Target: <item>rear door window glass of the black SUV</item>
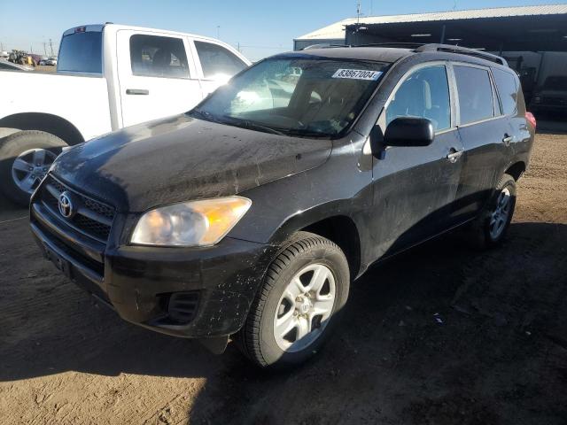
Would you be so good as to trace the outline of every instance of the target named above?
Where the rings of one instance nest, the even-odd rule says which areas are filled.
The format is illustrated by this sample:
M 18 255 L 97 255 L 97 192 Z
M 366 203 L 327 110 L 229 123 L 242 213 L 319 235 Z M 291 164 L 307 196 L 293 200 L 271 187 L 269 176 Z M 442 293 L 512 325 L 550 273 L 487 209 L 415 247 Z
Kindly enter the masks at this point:
M 459 92 L 461 124 L 494 116 L 493 89 L 488 71 L 470 66 L 454 66 Z

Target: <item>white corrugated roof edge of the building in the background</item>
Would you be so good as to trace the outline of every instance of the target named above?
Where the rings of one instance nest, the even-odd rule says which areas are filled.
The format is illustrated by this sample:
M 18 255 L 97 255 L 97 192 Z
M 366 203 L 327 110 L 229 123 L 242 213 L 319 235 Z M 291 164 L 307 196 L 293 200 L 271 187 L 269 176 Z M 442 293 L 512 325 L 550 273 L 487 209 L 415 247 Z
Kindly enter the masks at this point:
M 469 11 L 410 13 L 408 15 L 387 15 L 361 17 L 361 24 L 395 24 L 402 22 L 427 22 L 454 19 L 504 18 L 510 16 L 537 16 L 567 14 L 567 4 L 543 4 L 539 6 L 495 7 L 491 9 L 472 9 Z M 322 27 L 296 40 L 344 39 L 345 26 L 356 23 L 356 18 L 339 20 Z

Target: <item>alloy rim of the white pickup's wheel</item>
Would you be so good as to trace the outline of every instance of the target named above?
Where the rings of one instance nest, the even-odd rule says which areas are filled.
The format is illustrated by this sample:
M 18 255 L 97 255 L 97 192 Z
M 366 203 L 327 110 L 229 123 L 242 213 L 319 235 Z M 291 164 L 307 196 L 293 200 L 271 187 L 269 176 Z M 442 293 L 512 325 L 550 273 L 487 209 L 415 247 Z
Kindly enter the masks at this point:
M 21 152 L 12 164 L 12 180 L 20 190 L 32 194 L 57 155 L 46 149 L 29 149 Z

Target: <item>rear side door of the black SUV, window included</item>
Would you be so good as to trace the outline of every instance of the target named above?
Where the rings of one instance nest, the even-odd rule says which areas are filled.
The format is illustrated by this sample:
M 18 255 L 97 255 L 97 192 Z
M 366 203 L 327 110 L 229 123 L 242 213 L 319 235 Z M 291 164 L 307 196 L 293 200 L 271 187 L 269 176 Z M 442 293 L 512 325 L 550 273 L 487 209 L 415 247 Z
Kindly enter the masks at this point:
M 453 218 L 464 221 L 476 216 L 492 195 L 514 135 L 508 118 L 501 113 L 490 69 L 454 63 L 453 71 L 464 147 Z

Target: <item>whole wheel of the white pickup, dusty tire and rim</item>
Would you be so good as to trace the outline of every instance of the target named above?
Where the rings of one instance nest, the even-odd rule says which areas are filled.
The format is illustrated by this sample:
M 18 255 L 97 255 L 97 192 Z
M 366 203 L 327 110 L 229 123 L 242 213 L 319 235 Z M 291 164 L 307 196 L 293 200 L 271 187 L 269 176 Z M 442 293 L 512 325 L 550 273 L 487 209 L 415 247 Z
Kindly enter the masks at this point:
M 43 131 L 19 131 L 4 137 L 0 140 L 0 190 L 16 204 L 27 206 L 51 162 L 66 145 Z

